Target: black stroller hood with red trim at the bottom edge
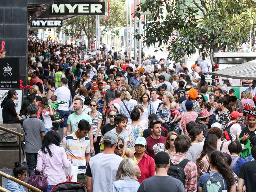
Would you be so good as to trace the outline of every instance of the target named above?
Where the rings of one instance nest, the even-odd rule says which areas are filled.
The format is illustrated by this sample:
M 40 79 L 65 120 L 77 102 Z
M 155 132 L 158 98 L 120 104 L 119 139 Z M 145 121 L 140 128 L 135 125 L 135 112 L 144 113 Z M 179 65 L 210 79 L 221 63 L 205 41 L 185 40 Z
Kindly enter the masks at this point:
M 86 185 L 77 182 L 63 182 L 55 185 L 51 192 L 87 192 Z

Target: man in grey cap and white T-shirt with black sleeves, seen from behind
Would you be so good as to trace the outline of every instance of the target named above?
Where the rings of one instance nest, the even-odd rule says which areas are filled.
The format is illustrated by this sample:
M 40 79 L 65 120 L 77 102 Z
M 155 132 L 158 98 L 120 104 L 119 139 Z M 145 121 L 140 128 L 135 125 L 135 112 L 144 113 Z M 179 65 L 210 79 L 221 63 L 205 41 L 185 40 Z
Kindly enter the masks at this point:
M 114 153 L 118 143 L 117 134 L 107 132 L 103 138 L 104 151 L 92 157 L 87 164 L 87 191 L 109 192 L 122 157 Z

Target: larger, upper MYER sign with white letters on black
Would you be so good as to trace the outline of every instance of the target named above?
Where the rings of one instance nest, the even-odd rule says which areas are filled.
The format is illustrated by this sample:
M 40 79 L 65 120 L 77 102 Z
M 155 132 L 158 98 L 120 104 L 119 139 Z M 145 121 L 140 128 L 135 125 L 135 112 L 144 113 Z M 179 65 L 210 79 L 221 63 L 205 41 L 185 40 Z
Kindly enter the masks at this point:
M 104 11 L 104 2 L 67 2 L 50 6 L 50 15 L 104 15 Z

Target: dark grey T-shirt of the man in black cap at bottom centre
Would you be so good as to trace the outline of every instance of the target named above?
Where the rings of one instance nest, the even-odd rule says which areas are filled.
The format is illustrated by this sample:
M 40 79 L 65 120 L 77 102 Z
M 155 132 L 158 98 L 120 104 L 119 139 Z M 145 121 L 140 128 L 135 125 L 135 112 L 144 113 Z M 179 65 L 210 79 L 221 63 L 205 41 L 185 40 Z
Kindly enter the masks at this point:
M 149 177 L 142 181 L 137 192 L 185 192 L 183 183 L 170 176 Z

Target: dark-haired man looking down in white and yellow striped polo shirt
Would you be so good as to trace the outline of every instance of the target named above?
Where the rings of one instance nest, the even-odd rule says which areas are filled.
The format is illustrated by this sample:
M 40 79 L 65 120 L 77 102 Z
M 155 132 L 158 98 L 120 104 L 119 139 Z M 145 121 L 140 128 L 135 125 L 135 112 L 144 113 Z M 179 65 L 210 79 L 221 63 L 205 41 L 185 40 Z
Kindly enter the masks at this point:
M 72 157 L 72 165 L 78 166 L 77 182 L 86 185 L 86 164 L 90 159 L 90 140 L 87 136 L 91 125 L 86 120 L 80 120 L 78 129 L 63 138 L 62 146 L 67 157 Z

